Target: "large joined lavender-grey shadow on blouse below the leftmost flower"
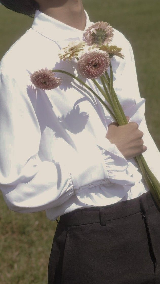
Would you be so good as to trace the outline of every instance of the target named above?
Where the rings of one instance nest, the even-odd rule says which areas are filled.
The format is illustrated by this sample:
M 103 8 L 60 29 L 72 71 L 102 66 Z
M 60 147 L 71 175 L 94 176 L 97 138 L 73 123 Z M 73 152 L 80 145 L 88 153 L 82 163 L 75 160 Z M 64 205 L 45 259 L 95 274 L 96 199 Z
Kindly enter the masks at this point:
M 55 115 L 53 105 L 45 90 L 38 89 L 38 94 L 35 87 L 27 86 L 27 94 L 34 107 L 41 135 L 46 127 L 54 131 L 56 138 L 63 138 L 67 143 L 76 149 L 76 146 L 66 130 L 77 134 L 81 132 L 88 121 L 89 115 L 86 112 L 80 112 L 79 105 L 74 104 L 73 109 L 66 116 L 62 117 Z

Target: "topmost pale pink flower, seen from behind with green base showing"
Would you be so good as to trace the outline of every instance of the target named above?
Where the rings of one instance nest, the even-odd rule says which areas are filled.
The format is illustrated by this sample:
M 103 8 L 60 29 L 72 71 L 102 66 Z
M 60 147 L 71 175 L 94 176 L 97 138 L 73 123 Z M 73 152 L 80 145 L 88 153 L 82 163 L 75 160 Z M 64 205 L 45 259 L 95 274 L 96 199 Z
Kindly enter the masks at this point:
M 88 45 L 103 45 L 112 41 L 113 32 L 113 28 L 107 22 L 97 22 L 86 30 L 83 40 Z

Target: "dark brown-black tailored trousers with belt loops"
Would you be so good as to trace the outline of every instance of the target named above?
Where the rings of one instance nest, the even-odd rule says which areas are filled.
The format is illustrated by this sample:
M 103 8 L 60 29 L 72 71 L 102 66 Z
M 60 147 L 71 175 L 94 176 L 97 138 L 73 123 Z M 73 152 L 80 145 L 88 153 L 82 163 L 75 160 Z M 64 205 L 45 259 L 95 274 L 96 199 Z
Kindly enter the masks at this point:
M 160 210 L 148 191 L 60 216 L 48 284 L 160 284 Z

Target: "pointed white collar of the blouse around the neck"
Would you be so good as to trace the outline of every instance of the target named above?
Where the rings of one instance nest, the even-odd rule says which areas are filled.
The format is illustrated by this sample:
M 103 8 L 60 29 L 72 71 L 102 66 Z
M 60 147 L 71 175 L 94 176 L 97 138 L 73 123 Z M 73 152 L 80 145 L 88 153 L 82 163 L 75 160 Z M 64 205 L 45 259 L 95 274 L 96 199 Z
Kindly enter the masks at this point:
M 84 31 L 92 24 L 86 11 L 85 14 L 86 27 Z M 39 10 L 35 12 L 34 22 L 31 28 L 55 42 L 63 42 L 70 39 L 82 40 L 84 34 L 84 31 L 68 26 Z

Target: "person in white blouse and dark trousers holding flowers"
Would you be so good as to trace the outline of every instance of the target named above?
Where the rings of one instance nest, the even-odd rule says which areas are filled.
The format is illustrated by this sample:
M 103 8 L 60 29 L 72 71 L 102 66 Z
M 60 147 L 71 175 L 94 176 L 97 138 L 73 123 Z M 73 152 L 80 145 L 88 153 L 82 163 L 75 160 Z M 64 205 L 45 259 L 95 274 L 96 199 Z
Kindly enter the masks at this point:
M 34 14 L 34 22 L 0 63 L 0 188 L 10 210 L 60 216 L 48 284 L 159 283 L 160 211 L 134 157 L 143 153 L 159 179 L 160 153 L 146 126 L 129 41 L 114 29 L 111 44 L 125 56 L 111 59 L 114 87 L 129 121 L 118 126 L 67 75 L 48 91 L 30 81 L 45 67 L 76 74 L 74 62 L 58 53 L 94 24 L 82 1 L 1 3 Z

